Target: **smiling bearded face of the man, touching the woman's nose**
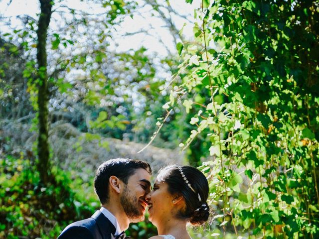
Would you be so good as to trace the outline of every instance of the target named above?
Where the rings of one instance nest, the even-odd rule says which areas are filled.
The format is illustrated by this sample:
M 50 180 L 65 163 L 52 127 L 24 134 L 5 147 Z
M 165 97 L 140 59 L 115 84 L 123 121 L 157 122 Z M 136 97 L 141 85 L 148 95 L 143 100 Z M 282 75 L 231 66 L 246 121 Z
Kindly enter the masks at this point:
M 145 197 L 151 190 L 150 180 L 151 175 L 145 169 L 137 169 L 122 191 L 121 204 L 132 223 L 144 220 L 148 206 Z

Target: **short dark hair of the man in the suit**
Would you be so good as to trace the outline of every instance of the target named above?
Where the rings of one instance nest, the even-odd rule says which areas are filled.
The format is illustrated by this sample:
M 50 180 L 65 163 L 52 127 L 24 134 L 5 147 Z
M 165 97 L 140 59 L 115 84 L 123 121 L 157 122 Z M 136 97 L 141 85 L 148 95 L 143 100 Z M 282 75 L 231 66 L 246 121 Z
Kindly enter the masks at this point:
M 104 204 L 109 201 L 109 179 L 111 176 L 116 176 L 127 184 L 129 178 L 139 168 L 145 169 L 149 174 L 152 174 L 150 164 L 141 160 L 116 158 L 102 163 L 97 169 L 94 178 L 94 190 L 100 202 Z

